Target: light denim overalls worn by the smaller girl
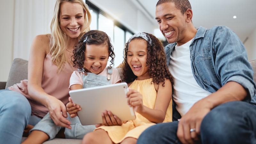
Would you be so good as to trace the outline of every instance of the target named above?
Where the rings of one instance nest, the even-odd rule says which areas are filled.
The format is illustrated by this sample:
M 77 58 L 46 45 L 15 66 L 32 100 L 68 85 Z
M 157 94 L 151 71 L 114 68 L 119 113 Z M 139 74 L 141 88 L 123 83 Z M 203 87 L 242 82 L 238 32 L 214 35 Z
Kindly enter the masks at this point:
M 84 75 L 83 78 L 83 88 L 90 88 L 95 86 L 101 86 L 101 85 L 107 85 L 111 84 L 111 76 L 113 73 L 113 68 L 108 67 L 107 76 L 100 76 L 93 73 L 86 73 L 84 69 L 82 69 L 80 72 L 82 72 Z M 95 125 L 82 125 L 78 116 L 71 118 L 68 114 L 67 118 L 71 124 L 71 130 L 68 128 L 65 128 L 65 138 L 66 139 L 83 139 L 84 135 L 88 132 L 92 132 L 95 129 Z M 47 113 L 44 118 L 35 125 L 35 127 L 31 130 L 39 130 L 42 132 L 45 132 L 50 138 L 49 140 L 52 140 L 55 138 L 57 133 L 60 131 L 60 129 L 63 127 L 57 126 L 52 121 L 49 113 Z M 30 132 L 31 132 L 30 131 Z

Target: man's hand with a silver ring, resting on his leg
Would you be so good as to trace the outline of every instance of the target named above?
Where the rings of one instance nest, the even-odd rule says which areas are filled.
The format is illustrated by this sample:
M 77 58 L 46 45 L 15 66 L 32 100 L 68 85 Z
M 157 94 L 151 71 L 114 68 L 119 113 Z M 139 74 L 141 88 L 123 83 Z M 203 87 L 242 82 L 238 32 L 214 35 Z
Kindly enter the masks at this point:
M 210 111 L 209 104 L 199 100 L 181 117 L 177 131 L 177 136 L 181 143 L 194 144 L 198 140 L 201 122 Z

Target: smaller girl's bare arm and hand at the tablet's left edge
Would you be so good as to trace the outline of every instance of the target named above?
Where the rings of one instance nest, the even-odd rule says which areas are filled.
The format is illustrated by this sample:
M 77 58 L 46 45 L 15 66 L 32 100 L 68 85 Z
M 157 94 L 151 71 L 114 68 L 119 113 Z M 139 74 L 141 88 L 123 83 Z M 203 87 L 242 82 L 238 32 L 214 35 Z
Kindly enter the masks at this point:
M 70 86 L 71 90 L 77 90 L 77 89 L 82 89 L 82 85 L 81 84 L 73 84 Z M 71 97 L 68 98 L 69 103 L 66 105 L 67 111 L 70 115 L 70 117 L 76 117 L 77 116 L 77 112 L 80 111 L 82 108 L 77 105 L 76 103 L 73 103 Z

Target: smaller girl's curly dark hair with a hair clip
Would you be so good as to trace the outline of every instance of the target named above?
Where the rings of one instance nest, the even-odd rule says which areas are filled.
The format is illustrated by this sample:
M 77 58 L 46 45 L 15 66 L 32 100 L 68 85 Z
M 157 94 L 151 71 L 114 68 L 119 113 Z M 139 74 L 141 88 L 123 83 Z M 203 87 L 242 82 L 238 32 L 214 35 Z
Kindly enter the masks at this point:
M 87 33 L 85 33 L 84 36 L 82 36 L 81 39 L 78 41 L 76 48 L 73 50 L 74 55 L 73 55 L 72 61 L 74 63 L 73 65 L 74 67 L 77 66 L 77 68 L 80 70 L 84 68 L 84 52 L 86 49 L 86 44 L 87 45 L 107 44 L 109 57 L 111 57 L 110 68 L 112 68 L 112 65 L 114 65 L 114 58 L 115 58 L 114 48 L 113 48 L 113 45 L 111 44 L 110 37 L 105 32 L 100 30 L 90 30 Z

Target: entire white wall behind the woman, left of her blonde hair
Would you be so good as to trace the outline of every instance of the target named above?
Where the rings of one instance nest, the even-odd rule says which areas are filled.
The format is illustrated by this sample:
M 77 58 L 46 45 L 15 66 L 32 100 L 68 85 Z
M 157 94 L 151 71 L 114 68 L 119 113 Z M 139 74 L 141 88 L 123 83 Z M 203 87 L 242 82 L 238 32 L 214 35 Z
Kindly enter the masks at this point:
M 54 0 L 1 0 L 0 81 L 7 81 L 14 58 L 28 60 L 30 45 L 50 32 Z

